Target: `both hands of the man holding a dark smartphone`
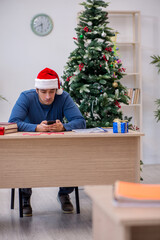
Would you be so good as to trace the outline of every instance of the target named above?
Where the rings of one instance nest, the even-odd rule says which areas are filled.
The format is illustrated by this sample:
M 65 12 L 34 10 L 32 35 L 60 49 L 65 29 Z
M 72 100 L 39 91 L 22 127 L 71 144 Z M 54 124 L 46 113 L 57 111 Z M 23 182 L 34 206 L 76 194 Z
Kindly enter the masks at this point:
M 36 127 L 36 132 L 63 132 L 65 128 L 60 120 L 56 120 L 56 123 L 47 125 L 47 121 L 42 121 Z

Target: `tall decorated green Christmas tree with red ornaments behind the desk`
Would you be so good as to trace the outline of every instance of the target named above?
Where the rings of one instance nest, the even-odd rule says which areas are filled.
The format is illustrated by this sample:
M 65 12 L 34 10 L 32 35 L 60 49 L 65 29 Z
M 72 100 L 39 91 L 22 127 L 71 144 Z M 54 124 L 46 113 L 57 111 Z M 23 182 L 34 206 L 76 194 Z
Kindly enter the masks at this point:
M 70 53 L 63 88 L 69 92 L 86 119 L 87 127 L 109 127 L 122 119 L 120 103 L 128 104 L 127 89 L 120 83 L 125 69 L 117 55 L 108 27 L 108 13 L 103 0 L 86 0 L 79 15 L 76 49 Z

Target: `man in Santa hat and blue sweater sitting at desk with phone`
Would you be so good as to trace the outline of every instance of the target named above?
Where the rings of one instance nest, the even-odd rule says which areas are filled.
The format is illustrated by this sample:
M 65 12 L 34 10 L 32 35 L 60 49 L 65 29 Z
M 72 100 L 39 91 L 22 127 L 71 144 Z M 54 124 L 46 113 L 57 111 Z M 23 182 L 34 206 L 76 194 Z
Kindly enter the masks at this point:
M 16 122 L 19 131 L 61 132 L 85 128 L 86 123 L 70 95 L 60 89 L 58 74 L 52 69 L 43 69 L 35 79 L 35 89 L 21 93 L 13 107 L 9 122 Z M 63 123 L 66 117 L 68 123 Z M 55 123 L 47 124 L 54 120 Z M 73 187 L 60 187 L 58 200 L 65 213 L 73 212 L 69 194 Z M 22 189 L 23 215 L 32 216 L 31 188 Z

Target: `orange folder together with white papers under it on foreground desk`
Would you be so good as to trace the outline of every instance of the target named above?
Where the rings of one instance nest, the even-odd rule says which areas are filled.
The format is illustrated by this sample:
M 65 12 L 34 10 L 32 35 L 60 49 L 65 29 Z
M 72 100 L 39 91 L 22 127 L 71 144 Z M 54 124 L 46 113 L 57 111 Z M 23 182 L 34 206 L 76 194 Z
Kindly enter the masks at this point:
M 117 181 L 113 188 L 113 204 L 122 207 L 160 207 L 160 184 Z

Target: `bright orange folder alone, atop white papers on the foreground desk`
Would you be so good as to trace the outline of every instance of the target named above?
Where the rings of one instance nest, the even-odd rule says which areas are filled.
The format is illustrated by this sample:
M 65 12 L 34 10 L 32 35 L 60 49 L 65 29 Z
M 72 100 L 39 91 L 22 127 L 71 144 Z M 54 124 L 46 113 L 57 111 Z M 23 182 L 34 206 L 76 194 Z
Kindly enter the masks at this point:
M 160 184 L 117 181 L 114 187 L 114 198 L 120 202 L 160 202 Z

